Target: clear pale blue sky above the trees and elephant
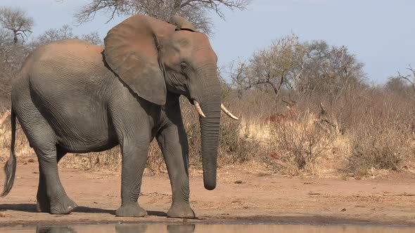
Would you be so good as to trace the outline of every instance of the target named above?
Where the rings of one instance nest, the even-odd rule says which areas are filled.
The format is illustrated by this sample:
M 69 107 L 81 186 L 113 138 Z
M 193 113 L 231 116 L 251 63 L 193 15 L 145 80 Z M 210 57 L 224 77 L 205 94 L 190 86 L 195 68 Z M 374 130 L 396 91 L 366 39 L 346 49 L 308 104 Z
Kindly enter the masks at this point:
M 0 6 L 18 6 L 34 18 L 32 36 L 69 24 L 76 34 L 108 29 L 104 15 L 76 27 L 73 13 L 89 0 L 1 0 Z M 369 79 L 382 84 L 388 76 L 415 66 L 415 1 L 412 0 L 253 0 L 248 11 L 224 10 L 226 21 L 213 15 L 215 36 L 211 43 L 219 65 L 249 58 L 274 39 L 295 33 L 300 40 L 324 39 L 347 46 Z

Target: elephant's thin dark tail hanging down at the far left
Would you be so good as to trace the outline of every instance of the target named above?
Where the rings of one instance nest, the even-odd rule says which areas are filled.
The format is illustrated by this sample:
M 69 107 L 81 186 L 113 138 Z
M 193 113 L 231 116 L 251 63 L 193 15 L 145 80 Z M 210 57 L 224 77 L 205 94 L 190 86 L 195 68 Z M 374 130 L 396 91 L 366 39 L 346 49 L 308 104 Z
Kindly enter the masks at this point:
M 8 161 L 4 165 L 4 172 L 6 173 L 6 180 L 4 181 L 4 189 L 1 193 L 1 197 L 6 197 L 7 194 L 10 192 L 11 187 L 13 187 L 13 182 L 16 173 L 16 155 L 15 155 L 15 139 L 16 139 L 16 114 L 13 111 L 13 107 L 11 110 L 11 145 L 10 145 L 10 157 L 8 157 Z

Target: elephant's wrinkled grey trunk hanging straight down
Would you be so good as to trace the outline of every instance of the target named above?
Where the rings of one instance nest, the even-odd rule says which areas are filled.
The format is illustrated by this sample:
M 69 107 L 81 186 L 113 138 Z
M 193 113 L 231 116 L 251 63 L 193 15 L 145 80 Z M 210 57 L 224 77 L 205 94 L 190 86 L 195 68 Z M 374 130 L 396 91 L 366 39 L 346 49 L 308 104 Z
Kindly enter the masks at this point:
M 210 72 L 211 73 L 211 72 Z M 219 143 L 219 126 L 221 111 L 221 89 L 215 68 L 214 75 L 204 76 L 198 91 L 200 108 L 200 135 L 202 140 L 203 183 L 205 189 L 216 187 L 217 149 Z M 196 104 L 197 105 L 197 104 Z

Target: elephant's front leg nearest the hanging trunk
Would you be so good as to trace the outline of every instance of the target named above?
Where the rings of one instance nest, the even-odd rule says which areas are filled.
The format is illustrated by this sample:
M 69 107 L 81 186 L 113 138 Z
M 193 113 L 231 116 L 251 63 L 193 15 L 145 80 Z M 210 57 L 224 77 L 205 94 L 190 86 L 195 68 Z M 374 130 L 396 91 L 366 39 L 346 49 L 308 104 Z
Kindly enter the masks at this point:
M 189 145 L 181 123 L 163 128 L 157 135 L 172 185 L 172 206 L 167 211 L 170 218 L 195 218 L 189 204 Z

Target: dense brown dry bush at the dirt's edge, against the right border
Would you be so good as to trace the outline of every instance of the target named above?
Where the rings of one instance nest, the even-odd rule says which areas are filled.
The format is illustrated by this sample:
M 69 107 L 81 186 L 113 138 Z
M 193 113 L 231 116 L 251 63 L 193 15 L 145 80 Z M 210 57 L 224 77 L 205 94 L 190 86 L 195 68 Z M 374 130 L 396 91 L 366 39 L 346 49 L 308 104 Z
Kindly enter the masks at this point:
M 370 101 L 369 101 L 370 100 Z M 400 171 L 414 160 L 414 103 L 397 95 L 371 93 L 364 114 L 352 125 L 348 168 L 357 177 L 373 169 Z

